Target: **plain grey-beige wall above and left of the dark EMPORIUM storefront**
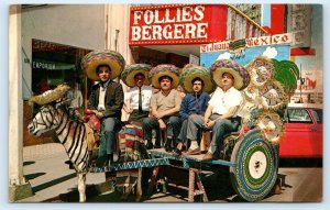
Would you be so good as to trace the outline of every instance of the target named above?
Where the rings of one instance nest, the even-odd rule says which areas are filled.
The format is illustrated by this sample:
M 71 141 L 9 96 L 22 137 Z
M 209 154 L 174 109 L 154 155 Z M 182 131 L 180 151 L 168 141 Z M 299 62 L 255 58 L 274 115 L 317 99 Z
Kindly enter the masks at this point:
M 105 48 L 103 4 L 45 5 L 22 10 L 21 16 L 23 99 L 31 97 L 32 38 L 80 48 Z

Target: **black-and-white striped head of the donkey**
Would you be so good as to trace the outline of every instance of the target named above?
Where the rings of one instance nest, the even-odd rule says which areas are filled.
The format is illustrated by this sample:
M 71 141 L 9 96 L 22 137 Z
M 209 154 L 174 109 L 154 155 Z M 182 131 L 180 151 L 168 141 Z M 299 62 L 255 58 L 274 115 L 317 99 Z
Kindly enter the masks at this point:
M 61 123 L 59 111 L 51 104 L 43 106 L 29 123 L 28 130 L 31 134 L 41 134 L 55 129 Z

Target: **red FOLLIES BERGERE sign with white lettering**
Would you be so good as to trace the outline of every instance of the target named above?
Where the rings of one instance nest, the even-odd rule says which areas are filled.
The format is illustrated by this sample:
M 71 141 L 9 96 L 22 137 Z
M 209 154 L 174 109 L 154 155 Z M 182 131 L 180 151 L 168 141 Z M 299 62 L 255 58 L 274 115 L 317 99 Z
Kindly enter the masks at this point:
M 213 15 L 217 15 L 215 21 Z M 131 8 L 130 45 L 199 44 L 226 38 L 227 7 L 161 4 Z M 211 22 L 212 19 L 212 22 Z

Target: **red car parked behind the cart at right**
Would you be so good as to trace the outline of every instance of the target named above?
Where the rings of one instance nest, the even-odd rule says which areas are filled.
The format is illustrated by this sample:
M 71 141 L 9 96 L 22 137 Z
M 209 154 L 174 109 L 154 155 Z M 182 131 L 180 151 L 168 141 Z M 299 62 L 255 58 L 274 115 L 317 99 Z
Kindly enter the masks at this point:
M 322 158 L 323 110 L 317 104 L 289 103 L 284 115 L 280 158 Z

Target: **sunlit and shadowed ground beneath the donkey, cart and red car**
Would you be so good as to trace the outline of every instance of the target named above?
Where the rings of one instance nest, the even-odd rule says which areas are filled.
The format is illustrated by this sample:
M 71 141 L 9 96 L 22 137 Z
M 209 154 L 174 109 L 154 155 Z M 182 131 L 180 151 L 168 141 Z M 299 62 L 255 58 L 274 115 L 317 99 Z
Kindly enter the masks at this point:
M 34 196 L 16 202 L 77 202 L 77 178 L 65 164 L 68 157 L 59 143 L 48 143 L 23 148 L 23 173 Z M 231 187 L 227 170 L 209 173 L 204 185 L 210 202 L 244 202 Z M 322 201 L 322 167 L 312 165 L 282 166 L 279 195 L 270 195 L 262 202 L 320 202 Z M 135 202 L 134 196 L 123 198 L 107 183 L 105 174 L 87 174 L 87 202 Z M 199 198 L 196 198 L 196 201 Z M 187 202 L 188 194 L 168 187 L 161 189 L 142 202 Z

